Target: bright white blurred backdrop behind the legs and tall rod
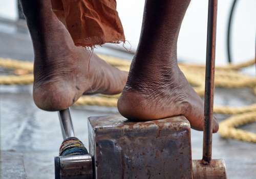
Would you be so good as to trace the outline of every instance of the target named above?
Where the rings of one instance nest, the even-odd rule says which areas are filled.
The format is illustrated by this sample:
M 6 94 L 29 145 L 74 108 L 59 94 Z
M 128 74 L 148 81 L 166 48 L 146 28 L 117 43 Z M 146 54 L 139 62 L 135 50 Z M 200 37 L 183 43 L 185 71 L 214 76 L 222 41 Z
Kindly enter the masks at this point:
M 217 64 L 225 64 L 227 61 L 226 31 L 232 2 L 233 0 L 218 2 Z M 255 7 L 256 1 L 254 0 L 243 0 L 237 3 L 231 34 L 231 49 L 234 62 L 252 59 L 255 56 Z M 131 43 L 134 52 L 139 42 L 143 8 L 144 1 L 142 0 L 117 0 L 117 10 L 123 24 L 125 37 Z M 17 20 L 16 0 L 0 1 L 0 18 Z M 206 27 L 207 1 L 192 0 L 180 31 L 178 42 L 178 57 L 180 59 L 191 60 L 195 63 L 205 62 Z M 0 30 L 4 33 L 15 33 L 15 29 L 10 29 L 3 25 L 1 25 Z M 125 47 L 130 48 L 129 43 Z

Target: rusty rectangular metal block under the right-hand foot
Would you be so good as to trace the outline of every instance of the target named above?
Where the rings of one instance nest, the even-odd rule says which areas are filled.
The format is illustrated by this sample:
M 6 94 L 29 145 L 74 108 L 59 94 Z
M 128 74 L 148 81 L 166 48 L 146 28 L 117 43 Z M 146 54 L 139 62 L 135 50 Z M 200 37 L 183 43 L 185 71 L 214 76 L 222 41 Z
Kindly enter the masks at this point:
M 135 122 L 89 118 L 96 179 L 192 178 L 190 125 L 184 116 Z

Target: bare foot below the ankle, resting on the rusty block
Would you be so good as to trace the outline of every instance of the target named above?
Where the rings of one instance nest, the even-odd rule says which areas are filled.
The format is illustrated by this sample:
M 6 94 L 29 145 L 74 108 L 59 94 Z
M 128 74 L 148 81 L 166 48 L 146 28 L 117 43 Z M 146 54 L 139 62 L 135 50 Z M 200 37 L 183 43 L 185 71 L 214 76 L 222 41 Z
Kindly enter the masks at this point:
M 193 129 L 202 131 L 204 126 L 204 103 L 179 68 L 166 80 L 155 79 L 135 88 L 127 82 L 118 100 L 118 110 L 124 117 L 134 120 L 184 115 Z M 214 119 L 213 132 L 218 129 Z

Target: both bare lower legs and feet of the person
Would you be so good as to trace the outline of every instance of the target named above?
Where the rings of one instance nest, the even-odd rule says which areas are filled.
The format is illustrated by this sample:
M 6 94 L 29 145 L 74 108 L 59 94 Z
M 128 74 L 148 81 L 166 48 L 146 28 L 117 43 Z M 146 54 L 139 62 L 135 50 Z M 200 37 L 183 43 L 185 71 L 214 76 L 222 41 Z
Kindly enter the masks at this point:
M 74 45 L 50 0 L 20 2 L 34 46 L 33 97 L 39 108 L 58 111 L 72 106 L 83 93 L 116 94 L 123 89 L 118 110 L 124 117 L 184 115 L 191 127 L 203 130 L 203 101 L 177 64 L 179 30 L 190 0 L 146 0 L 140 43 L 126 85 L 127 73 L 97 56 L 92 55 L 89 65 L 90 52 Z M 214 119 L 213 132 L 218 128 Z

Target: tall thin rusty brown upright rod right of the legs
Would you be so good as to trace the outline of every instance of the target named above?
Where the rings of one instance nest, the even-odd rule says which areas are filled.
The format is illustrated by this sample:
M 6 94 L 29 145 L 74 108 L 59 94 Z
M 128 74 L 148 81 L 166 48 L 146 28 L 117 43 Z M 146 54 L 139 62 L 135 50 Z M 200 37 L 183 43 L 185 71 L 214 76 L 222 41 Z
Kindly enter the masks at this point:
M 203 163 L 205 164 L 210 163 L 211 160 L 217 7 L 218 0 L 209 0 L 204 95 Z

